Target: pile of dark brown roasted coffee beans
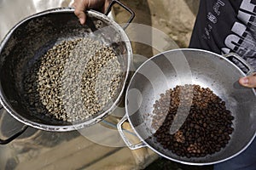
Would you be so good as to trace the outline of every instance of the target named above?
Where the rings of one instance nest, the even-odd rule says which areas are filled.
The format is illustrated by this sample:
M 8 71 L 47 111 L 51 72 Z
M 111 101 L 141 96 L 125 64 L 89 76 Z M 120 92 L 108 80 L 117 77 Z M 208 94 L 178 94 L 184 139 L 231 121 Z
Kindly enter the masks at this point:
M 184 108 L 189 108 L 189 113 L 183 113 Z M 181 109 L 179 116 L 187 117 L 177 132 L 171 134 L 170 128 L 178 109 Z M 199 85 L 167 90 L 155 102 L 153 113 L 154 139 L 177 156 L 212 155 L 229 143 L 234 131 L 234 116 L 226 109 L 225 102 L 209 88 Z

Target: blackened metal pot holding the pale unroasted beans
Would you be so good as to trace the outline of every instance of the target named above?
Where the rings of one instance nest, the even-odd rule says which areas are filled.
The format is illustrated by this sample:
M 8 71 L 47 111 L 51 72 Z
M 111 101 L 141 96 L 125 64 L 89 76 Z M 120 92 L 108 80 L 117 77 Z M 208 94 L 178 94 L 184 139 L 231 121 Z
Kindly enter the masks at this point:
M 59 121 L 27 109 L 22 81 L 33 61 L 57 42 L 91 36 L 113 48 L 123 69 L 120 88 L 108 108 L 80 122 Z M 87 127 L 100 122 L 119 104 L 131 62 L 131 43 L 124 29 L 105 14 L 88 11 L 84 26 L 80 25 L 73 8 L 33 14 L 12 28 L 0 45 L 0 101 L 9 114 L 31 127 L 59 132 Z

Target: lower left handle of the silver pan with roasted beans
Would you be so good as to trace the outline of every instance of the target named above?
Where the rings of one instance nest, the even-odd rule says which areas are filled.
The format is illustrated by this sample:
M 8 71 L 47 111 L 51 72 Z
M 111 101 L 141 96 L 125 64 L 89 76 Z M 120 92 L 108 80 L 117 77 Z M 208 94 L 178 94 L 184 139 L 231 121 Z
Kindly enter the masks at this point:
M 130 148 L 130 150 L 137 150 L 139 148 L 143 148 L 146 147 L 147 144 L 144 144 L 143 142 L 140 142 L 138 144 L 131 144 L 131 142 L 129 141 L 129 139 L 125 136 L 125 133 L 123 131 L 122 125 L 123 123 L 127 120 L 127 116 L 124 116 L 120 122 L 117 124 L 117 128 L 119 130 L 119 134 L 122 137 L 122 139 L 124 140 L 125 144 Z

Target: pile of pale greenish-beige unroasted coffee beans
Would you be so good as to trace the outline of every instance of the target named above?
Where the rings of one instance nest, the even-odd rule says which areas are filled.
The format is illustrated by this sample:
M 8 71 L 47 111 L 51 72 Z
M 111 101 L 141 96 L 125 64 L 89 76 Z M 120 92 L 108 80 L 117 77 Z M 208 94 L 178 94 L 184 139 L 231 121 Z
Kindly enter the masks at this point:
M 104 111 L 120 88 L 122 71 L 113 48 L 91 38 L 49 48 L 24 79 L 29 110 L 65 122 Z

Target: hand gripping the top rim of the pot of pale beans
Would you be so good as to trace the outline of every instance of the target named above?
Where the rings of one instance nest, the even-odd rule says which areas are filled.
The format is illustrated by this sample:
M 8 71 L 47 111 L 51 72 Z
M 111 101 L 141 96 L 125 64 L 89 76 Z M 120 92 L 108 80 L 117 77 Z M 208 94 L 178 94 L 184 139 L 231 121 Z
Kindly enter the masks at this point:
M 74 14 L 79 17 L 80 23 L 84 25 L 86 20 L 84 11 L 93 8 L 104 13 L 109 3 L 110 0 L 75 0 L 73 3 L 75 8 Z

